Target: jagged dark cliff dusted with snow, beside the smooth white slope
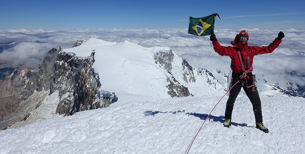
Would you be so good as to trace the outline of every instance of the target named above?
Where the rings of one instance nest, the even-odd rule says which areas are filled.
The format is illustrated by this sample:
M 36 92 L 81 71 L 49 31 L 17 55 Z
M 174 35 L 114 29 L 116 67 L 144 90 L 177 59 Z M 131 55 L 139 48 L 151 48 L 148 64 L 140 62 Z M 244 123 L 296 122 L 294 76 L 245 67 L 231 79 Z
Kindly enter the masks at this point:
M 99 82 L 91 68 L 95 51 L 88 57 L 78 57 L 74 53 L 59 52 L 54 65 L 54 82 L 50 94 L 59 91 L 60 102 L 56 113 L 73 115 L 76 112 L 109 106 L 117 100 L 99 91 Z M 98 77 L 97 77 L 98 78 Z M 104 91 L 104 93 L 107 93 Z M 108 92 L 108 94 L 112 94 Z

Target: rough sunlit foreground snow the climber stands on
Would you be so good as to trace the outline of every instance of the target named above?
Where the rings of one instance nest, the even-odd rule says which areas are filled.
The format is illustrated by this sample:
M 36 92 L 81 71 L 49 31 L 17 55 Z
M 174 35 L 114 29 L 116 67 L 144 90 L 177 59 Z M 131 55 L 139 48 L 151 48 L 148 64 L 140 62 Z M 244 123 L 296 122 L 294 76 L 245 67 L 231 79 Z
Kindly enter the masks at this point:
M 0 153 L 185 153 L 219 99 L 128 102 L 46 119 L 0 131 Z M 213 110 L 189 153 L 304 153 L 304 98 L 261 96 L 270 130 L 266 134 L 255 128 L 252 105 L 244 95 L 235 102 L 232 126 L 223 127 L 226 99 Z

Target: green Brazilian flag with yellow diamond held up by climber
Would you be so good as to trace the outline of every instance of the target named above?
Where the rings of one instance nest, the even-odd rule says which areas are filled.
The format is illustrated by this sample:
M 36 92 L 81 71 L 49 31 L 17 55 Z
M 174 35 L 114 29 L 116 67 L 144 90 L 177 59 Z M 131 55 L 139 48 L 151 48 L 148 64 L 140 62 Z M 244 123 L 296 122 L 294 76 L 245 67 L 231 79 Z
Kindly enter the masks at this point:
M 188 34 L 193 34 L 197 36 L 206 36 L 214 34 L 215 17 L 214 14 L 202 18 L 193 18 L 190 16 Z

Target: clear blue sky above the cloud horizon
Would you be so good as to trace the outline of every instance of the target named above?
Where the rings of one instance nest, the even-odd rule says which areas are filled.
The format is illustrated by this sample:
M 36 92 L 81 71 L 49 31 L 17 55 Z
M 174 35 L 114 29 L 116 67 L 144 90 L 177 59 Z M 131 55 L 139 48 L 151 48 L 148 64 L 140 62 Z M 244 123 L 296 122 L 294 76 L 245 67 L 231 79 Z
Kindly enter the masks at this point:
M 188 28 L 189 16 L 218 13 L 215 29 L 304 29 L 305 6 L 291 1 L 2 1 L 0 30 Z

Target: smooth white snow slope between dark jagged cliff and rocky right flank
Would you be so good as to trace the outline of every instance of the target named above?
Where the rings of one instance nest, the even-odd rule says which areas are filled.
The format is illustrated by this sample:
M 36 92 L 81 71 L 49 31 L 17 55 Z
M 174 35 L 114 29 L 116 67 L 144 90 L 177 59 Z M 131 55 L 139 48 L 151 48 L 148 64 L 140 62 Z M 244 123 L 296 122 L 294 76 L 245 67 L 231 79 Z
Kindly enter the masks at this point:
M 153 59 L 155 52 L 169 51 L 169 48 L 145 48 L 128 41 L 116 43 L 91 38 L 78 47 L 63 49 L 64 52 L 73 52 L 81 57 L 89 56 L 92 50 L 95 50 L 92 68 L 99 73 L 102 84 L 99 89 L 119 94 L 118 103 L 135 100 L 121 95 L 124 93 L 155 99 L 170 97 L 165 88 L 166 71 Z

